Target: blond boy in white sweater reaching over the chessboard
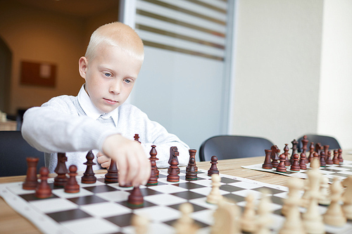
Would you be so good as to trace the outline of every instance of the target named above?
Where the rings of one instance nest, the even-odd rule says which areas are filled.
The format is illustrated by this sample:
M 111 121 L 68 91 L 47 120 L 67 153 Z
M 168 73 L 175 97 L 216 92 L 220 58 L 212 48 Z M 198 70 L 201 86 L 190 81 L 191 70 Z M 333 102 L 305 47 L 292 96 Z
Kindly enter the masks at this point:
M 113 22 L 99 27 L 79 60 L 85 84 L 75 96 L 51 98 L 41 107 L 25 112 L 23 138 L 45 153 L 45 164 L 52 173 L 56 152 L 66 152 L 68 165 L 84 171 L 85 155 L 96 149 L 102 167 L 115 160 L 119 182 L 145 184 L 150 176 L 148 160 L 151 145 L 157 145 L 158 167 L 168 167 L 170 147 L 177 146 L 180 164 L 187 164 L 188 146 L 146 114 L 125 103 L 144 60 L 142 40 L 127 25 Z M 139 134 L 139 144 L 133 141 Z M 97 164 L 94 169 L 100 169 Z

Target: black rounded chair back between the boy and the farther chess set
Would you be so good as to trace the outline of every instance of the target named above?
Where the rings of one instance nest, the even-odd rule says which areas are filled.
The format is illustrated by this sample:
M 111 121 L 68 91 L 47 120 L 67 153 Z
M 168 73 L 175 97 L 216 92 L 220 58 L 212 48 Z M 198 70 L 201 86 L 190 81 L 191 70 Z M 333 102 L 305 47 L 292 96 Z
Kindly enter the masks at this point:
M 229 160 L 240 157 L 264 156 L 265 150 L 272 147 L 272 143 L 260 137 L 253 136 L 213 136 L 201 144 L 199 158 L 210 161 L 215 155 L 218 160 Z

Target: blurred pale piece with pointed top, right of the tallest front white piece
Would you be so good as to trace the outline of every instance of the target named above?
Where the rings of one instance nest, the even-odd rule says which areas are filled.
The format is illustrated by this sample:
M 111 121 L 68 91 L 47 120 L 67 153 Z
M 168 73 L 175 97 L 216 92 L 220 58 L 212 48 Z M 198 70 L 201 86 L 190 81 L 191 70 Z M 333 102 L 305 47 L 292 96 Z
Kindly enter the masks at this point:
M 347 222 L 346 216 L 342 210 L 341 200 L 342 186 L 337 177 L 331 186 L 331 203 L 324 214 L 324 222 L 331 226 L 344 226 Z

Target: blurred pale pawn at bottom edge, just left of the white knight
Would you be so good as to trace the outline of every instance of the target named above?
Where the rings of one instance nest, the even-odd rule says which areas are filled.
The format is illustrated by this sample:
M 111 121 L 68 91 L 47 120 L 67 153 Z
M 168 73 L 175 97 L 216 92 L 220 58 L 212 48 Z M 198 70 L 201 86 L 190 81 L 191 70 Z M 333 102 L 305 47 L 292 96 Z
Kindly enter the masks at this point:
M 191 218 L 191 213 L 194 211 L 191 203 L 182 203 L 180 204 L 180 219 L 174 224 L 176 234 L 196 234 L 199 226 L 194 223 L 194 220 Z

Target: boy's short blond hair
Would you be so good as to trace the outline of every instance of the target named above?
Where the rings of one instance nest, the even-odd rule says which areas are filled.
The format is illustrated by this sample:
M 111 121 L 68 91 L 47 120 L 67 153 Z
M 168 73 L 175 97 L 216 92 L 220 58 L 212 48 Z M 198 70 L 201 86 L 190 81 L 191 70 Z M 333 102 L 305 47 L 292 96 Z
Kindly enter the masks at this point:
M 99 46 L 118 46 L 130 56 L 143 61 L 143 41 L 130 26 L 122 22 L 111 22 L 98 27 L 90 37 L 84 57 L 93 60 Z

